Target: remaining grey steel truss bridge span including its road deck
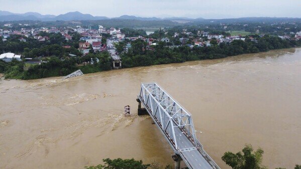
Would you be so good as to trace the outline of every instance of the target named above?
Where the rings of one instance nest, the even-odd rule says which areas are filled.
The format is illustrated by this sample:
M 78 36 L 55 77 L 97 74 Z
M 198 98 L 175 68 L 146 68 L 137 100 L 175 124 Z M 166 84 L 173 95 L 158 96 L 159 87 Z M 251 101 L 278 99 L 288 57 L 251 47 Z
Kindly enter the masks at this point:
M 188 168 L 220 169 L 197 140 L 191 114 L 162 87 L 155 82 L 142 83 L 138 99 Z

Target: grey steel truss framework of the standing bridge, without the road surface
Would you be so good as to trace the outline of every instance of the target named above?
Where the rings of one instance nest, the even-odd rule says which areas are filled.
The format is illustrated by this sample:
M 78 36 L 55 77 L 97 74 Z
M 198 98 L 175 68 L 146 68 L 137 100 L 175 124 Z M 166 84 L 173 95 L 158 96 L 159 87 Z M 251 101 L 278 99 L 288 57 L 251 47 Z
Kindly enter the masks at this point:
M 142 83 L 138 99 L 143 103 L 174 152 L 181 155 L 184 161 L 185 157 L 182 152 L 197 149 L 213 168 L 220 169 L 197 140 L 191 114 L 157 83 Z M 179 148 L 178 134 L 175 133 L 176 127 L 189 139 L 193 147 Z M 185 162 L 187 164 L 187 161 Z

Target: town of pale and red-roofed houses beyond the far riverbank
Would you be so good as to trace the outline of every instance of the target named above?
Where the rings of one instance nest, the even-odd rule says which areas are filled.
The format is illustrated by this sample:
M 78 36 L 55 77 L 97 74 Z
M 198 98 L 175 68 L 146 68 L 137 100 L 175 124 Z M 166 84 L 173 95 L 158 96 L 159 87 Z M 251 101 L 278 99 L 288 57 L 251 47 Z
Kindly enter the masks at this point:
M 164 35 L 168 34 L 168 29 L 162 29 L 162 37 L 160 38 L 152 38 L 152 36 L 137 36 L 137 37 L 127 37 L 126 33 L 122 32 L 121 29 L 118 28 L 105 28 L 103 26 L 88 26 L 88 28 L 83 28 L 82 26 L 76 27 L 50 27 L 50 28 L 38 28 L 38 29 L 27 29 L 30 27 L 29 24 L 19 24 L 21 30 L 14 30 L 14 24 L 4 24 L 3 29 L 0 29 L 0 37 L 2 38 L 3 43 L 6 43 L 8 38 L 12 35 L 19 36 L 20 42 L 26 42 L 28 39 L 35 39 L 41 43 L 49 41 L 49 37 L 41 36 L 40 32 L 45 33 L 54 33 L 54 34 L 61 34 L 65 40 L 71 41 L 72 35 L 69 35 L 70 32 L 76 32 L 80 35 L 80 39 L 78 42 L 78 51 L 85 56 L 90 52 L 92 49 L 93 52 L 102 52 L 102 51 L 110 51 L 110 54 L 114 60 L 117 60 L 121 63 L 121 58 L 118 56 L 119 54 L 115 51 L 114 44 L 118 42 L 125 42 L 125 50 L 128 51 L 131 48 L 131 42 L 141 39 L 147 43 L 147 50 L 154 50 L 154 46 L 158 44 L 158 42 L 162 41 L 165 42 L 166 46 L 170 48 L 179 47 L 179 46 L 188 46 L 190 49 L 193 47 L 210 47 L 214 44 L 219 45 L 220 43 L 231 43 L 234 40 L 242 40 L 245 41 L 246 37 L 241 35 L 235 36 L 225 36 L 225 35 L 217 35 L 211 34 L 207 31 L 198 30 L 196 34 L 187 31 L 187 29 L 183 29 L 181 32 L 175 32 L 172 38 L 173 41 L 170 40 L 167 36 Z M 224 27 L 225 29 L 227 26 Z M 161 29 L 160 29 L 161 31 Z M 262 37 L 264 34 L 260 34 L 259 30 L 256 33 Z M 102 41 L 103 36 L 106 35 L 107 42 Z M 290 32 L 289 35 L 281 35 L 278 36 L 281 39 L 289 39 L 289 40 L 300 40 L 301 39 L 301 31 L 299 32 Z M 255 37 L 248 36 L 249 40 L 257 42 Z M 174 42 L 177 41 L 179 43 L 175 44 Z M 214 43 L 213 43 L 214 41 Z M 62 46 L 63 48 L 71 48 L 69 45 Z M 17 58 L 21 60 L 22 58 L 28 58 L 27 56 L 22 56 L 20 54 L 6 54 L 5 52 L 10 51 L 3 51 L 4 54 L 1 55 L 0 59 L 3 60 L 12 60 L 12 58 Z M 72 53 L 69 56 L 76 56 Z M 11 59 L 8 59 L 11 57 Z M 121 64 L 120 67 L 121 68 Z

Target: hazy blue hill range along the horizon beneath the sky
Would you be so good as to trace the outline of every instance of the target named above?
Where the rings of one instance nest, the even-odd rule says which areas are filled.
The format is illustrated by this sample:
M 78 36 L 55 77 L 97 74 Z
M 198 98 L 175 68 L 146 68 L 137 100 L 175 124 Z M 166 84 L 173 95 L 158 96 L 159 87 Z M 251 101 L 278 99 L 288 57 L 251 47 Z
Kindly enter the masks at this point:
M 108 17 L 94 17 L 90 14 L 82 14 L 80 12 L 69 12 L 66 14 L 61 14 L 58 16 L 54 15 L 41 15 L 39 13 L 28 12 L 25 14 L 14 14 L 8 11 L 0 11 L 0 21 L 22 21 L 22 20 L 30 20 L 30 21 L 101 21 L 101 20 L 136 20 L 136 21 L 185 21 L 185 22 L 177 22 L 177 23 L 189 23 L 189 24 L 199 24 L 199 23 L 234 23 L 234 22 L 246 22 L 246 23 L 254 23 L 254 22 L 301 22 L 300 18 L 269 18 L 269 17 L 246 17 L 246 18 L 230 18 L 230 19 L 204 19 L 204 18 L 185 18 L 185 17 L 169 17 L 169 18 L 144 18 L 144 17 L 136 17 L 123 15 L 116 18 L 108 18 Z M 187 22 L 188 21 L 188 22 Z

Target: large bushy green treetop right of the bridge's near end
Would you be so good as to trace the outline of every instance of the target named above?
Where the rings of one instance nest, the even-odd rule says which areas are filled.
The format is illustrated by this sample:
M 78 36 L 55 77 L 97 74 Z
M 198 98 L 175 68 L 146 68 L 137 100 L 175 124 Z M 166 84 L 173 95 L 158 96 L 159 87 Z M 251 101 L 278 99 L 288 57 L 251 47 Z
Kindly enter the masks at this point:
M 258 148 L 253 152 L 252 145 L 245 145 L 242 152 L 225 152 L 222 156 L 223 161 L 226 162 L 233 169 L 262 169 L 266 168 L 261 165 L 263 150 Z

